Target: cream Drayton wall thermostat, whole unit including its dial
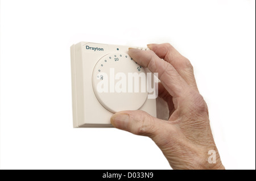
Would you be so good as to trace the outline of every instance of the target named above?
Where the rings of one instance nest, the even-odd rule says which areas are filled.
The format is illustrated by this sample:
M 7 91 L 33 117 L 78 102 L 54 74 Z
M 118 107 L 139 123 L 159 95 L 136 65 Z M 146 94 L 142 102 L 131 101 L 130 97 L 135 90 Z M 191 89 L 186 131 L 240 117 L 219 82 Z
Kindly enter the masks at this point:
M 88 42 L 71 46 L 74 128 L 112 127 L 113 113 L 125 110 L 143 110 L 156 117 L 158 79 L 128 50 Z

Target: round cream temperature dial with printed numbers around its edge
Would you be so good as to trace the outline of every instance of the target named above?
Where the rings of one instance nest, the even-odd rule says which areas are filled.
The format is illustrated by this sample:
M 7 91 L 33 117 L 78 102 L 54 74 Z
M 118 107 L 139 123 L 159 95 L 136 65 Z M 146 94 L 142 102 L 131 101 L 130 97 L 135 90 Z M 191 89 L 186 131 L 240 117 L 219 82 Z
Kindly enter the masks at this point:
M 147 99 L 147 76 L 127 53 L 106 54 L 96 64 L 92 75 L 93 91 L 110 112 L 138 110 Z

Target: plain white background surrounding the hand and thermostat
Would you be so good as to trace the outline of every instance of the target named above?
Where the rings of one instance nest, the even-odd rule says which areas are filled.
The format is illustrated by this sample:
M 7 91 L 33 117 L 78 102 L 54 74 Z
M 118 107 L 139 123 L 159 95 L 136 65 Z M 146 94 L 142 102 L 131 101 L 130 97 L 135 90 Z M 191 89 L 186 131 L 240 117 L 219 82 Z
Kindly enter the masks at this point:
M 226 169 L 255 169 L 255 1 L 1 1 L 1 169 L 170 169 L 150 138 L 73 129 L 69 47 L 171 43 Z M 95 110 L 97 113 L 97 110 Z

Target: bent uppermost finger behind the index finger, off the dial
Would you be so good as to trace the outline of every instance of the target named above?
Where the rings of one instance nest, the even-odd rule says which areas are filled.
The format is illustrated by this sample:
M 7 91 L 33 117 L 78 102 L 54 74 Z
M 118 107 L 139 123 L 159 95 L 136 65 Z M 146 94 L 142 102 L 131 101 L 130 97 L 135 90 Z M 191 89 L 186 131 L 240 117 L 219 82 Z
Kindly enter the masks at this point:
M 172 64 L 188 85 L 197 90 L 193 66 L 188 58 L 182 56 L 174 47 L 172 47 L 172 45 L 168 43 L 148 44 L 147 46 L 155 52 L 157 56 Z

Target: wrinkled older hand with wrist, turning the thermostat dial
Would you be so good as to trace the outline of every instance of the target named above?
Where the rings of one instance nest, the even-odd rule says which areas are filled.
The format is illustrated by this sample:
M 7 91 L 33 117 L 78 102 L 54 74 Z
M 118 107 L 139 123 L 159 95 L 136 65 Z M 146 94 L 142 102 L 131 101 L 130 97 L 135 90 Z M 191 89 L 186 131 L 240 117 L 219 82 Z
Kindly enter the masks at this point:
M 144 111 L 121 111 L 111 117 L 111 123 L 115 128 L 150 137 L 173 169 L 225 169 L 191 63 L 170 44 L 150 44 L 148 48 L 151 50 L 129 49 L 129 54 L 139 65 L 158 73 L 158 96 L 167 102 L 170 118 L 166 121 Z M 209 150 L 216 151 L 216 163 L 208 162 Z

